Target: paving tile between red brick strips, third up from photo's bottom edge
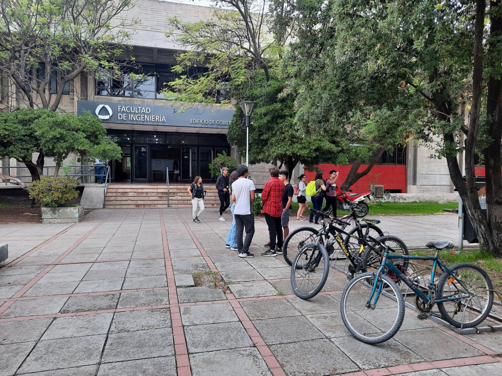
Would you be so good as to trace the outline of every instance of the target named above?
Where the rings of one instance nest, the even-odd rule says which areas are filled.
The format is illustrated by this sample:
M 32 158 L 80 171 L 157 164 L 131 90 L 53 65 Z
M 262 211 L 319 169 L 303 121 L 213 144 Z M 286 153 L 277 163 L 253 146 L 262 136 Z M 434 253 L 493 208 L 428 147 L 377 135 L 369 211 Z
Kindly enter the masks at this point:
M 230 304 L 181 307 L 183 325 L 218 324 L 239 321 Z

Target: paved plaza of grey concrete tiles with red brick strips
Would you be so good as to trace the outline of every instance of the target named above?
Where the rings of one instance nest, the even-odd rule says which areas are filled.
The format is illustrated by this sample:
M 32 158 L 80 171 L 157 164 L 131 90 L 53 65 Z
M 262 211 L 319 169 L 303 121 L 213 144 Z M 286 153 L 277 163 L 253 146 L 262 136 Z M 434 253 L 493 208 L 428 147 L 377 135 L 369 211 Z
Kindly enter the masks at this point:
M 343 273 L 299 299 L 282 257 L 260 256 L 263 218 L 255 257 L 241 259 L 225 248 L 231 217 L 206 209 L 196 224 L 190 212 L 95 210 L 75 224 L 0 225 L 9 245 L 0 376 L 502 374 L 502 332 L 462 335 L 409 308 L 391 340 L 358 342 L 340 318 Z M 291 229 L 308 224 L 292 219 Z M 458 244 L 456 214 L 378 219 L 409 247 Z M 228 291 L 183 286 L 196 272 L 219 273 Z

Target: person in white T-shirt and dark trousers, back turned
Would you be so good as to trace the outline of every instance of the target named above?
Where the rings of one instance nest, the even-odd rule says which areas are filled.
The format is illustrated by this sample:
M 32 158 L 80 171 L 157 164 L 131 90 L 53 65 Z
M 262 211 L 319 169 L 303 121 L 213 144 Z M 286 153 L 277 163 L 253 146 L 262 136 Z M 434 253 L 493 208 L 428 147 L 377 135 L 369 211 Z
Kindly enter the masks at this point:
M 232 183 L 232 200 L 235 201 L 234 216 L 236 219 L 237 250 L 239 257 L 253 257 L 249 247 L 255 234 L 255 215 L 251 204 L 255 201 L 255 183 L 247 179 L 247 166 L 237 167 L 237 180 Z M 246 238 L 242 235 L 246 229 Z

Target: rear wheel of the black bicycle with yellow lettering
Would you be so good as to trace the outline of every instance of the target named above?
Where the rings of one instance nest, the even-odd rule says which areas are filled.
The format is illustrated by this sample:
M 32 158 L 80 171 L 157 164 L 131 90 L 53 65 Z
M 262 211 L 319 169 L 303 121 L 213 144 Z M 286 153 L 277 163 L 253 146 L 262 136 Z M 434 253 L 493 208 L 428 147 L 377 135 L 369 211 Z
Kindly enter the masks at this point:
M 408 248 L 406 247 L 404 241 L 402 241 L 397 236 L 385 235 L 377 238 L 376 240 L 388 246 L 389 253 L 397 254 L 397 255 L 407 255 Z M 380 267 L 382 263 L 382 255 L 383 255 L 383 247 L 382 246 L 372 246 L 368 245 L 366 250 L 364 251 L 364 268 L 366 270 L 375 270 Z M 408 270 L 409 262 L 403 259 L 393 259 L 392 264 L 394 264 L 403 274 L 406 275 L 406 271 Z M 399 278 L 394 272 L 389 271 L 387 275 L 394 281 L 398 282 Z

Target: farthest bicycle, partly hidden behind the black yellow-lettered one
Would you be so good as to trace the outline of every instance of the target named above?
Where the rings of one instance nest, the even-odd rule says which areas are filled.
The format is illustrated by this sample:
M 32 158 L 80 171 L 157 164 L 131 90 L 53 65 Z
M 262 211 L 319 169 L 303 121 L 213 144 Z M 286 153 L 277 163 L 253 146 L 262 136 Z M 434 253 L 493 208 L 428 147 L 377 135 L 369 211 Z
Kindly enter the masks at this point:
M 328 212 L 320 212 L 320 213 L 327 214 L 329 216 L 329 214 L 331 214 L 331 210 Z M 347 236 L 344 239 L 345 247 L 349 247 L 350 249 L 354 248 L 352 246 L 349 246 L 349 242 L 352 239 L 351 238 L 352 235 L 355 235 L 357 238 L 367 237 L 368 235 L 377 238 L 379 236 L 384 235 L 383 231 L 380 230 L 378 226 L 376 226 L 376 224 L 380 223 L 379 220 L 371 220 L 371 219 L 358 220 L 357 219 L 358 217 L 359 216 L 356 214 L 356 211 L 352 210 L 351 213 L 339 218 L 341 222 L 338 222 L 338 228 L 342 230 L 345 230 L 352 220 L 355 222 L 355 227 L 348 232 L 349 236 Z M 321 225 L 324 226 L 325 225 L 324 215 L 320 216 L 320 220 L 321 220 Z M 334 230 L 333 233 L 329 233 L 326 239 L 323 241 L 330 255 L 334 253 L 335 249 L 334 247 L 332 247 L 334 242 L 329 241 L 330 237 L 329 235 L 334 235 L 334 233 L 337 231 L 336 229 L 337 228 L 333 228 Z M 290 256 L 293 255 L 294 257 L 304 245 L 306 245 L 308 242 L 315 241 L 314 239 L 318 234 L 319 230 L 310 226 L 302 226 L 293 230 L 284 239 L 284 242 L 282 244 L 282 257 L 284 257 L 284 261 L 286 261 L 286 264 L 291 266 L 293 264 L 293 260 L 290 258 Z

